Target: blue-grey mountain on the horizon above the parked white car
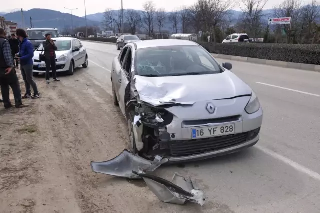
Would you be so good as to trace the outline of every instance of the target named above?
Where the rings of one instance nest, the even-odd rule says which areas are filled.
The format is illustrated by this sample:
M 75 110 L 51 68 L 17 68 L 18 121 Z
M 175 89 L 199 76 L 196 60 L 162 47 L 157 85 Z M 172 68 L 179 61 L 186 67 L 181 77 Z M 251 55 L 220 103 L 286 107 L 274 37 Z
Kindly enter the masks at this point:
M 6 20 L 16 22 L 18 27 L 22 27 L 21 12 L 12 12 L 3 15 Z M 23 12 L 24 27 L 30 27 L 30 17 L 32 17 L 33 28 L 58 28 L 60 31 L 64 26 L 71 28 L 71 15 L 50 9 L 30 9 Z M 85 18 L 72 15 L 73 27 L 85 26 Z M 100 26 L 101 21 L 87 20 L 87 25 Z

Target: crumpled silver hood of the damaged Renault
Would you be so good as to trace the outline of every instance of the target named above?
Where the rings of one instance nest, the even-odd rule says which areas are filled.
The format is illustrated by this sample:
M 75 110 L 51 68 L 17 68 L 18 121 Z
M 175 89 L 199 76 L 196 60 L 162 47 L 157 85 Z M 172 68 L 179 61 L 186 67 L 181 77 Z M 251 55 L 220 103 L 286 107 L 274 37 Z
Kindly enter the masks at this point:
M 197 101 L 250 95 L 252 89 L 230 71 L 220 74 L 167 77 L 134 76 L 140 100 L 154 106 L 168 103 L 192 105 Z

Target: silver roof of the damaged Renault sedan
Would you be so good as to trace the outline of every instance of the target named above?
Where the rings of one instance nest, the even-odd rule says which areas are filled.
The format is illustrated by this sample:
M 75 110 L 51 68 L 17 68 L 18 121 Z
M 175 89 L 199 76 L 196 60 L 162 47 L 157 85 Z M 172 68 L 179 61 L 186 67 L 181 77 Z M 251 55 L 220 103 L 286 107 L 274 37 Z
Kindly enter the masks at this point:
M 193 41 L 179 40 L 179 39 L 143 40 L 143 41 L 137 41 L 134 43 L 135 43 L 136 49 L 144 49 L 144 48 L 159 47 L 159 46 L 198 46 L 198 44 Z

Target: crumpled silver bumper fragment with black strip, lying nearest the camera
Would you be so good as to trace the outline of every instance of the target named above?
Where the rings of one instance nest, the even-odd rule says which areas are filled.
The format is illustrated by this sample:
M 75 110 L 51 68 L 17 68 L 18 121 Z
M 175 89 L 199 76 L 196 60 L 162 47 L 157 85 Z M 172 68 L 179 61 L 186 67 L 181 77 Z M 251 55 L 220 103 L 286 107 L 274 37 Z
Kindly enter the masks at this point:
M 204 192 L 195 186 L 191 178 L 186 180 L 180 174 L 175 173 L 172 182 L 170 182 L 151 174 L 135 171 L 132 173 L 141 176 L 150 190 L 162 202 L 183 205 L 186 201 L 190 201 L 201 206 L 205 203 Z

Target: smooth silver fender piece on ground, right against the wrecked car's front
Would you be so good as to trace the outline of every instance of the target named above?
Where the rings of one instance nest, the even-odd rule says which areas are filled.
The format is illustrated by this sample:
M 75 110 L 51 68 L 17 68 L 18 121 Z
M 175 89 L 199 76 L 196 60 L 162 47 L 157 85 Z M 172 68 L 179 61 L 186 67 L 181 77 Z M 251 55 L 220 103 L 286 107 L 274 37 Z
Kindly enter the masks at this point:
M 142 177 L 132 173 L 132 170 L 144 172 L 154 171 L 166 162 L 168 162 L 167 158 L 162 159 L 160 156 L 155 156 L 154 161 L 150 161 L 124 149 L 121 154 L 111 160 L 104 162 L 91 161 L 91 168 L 92 171 L 97 173 L 130 179 L 141 179 Z

